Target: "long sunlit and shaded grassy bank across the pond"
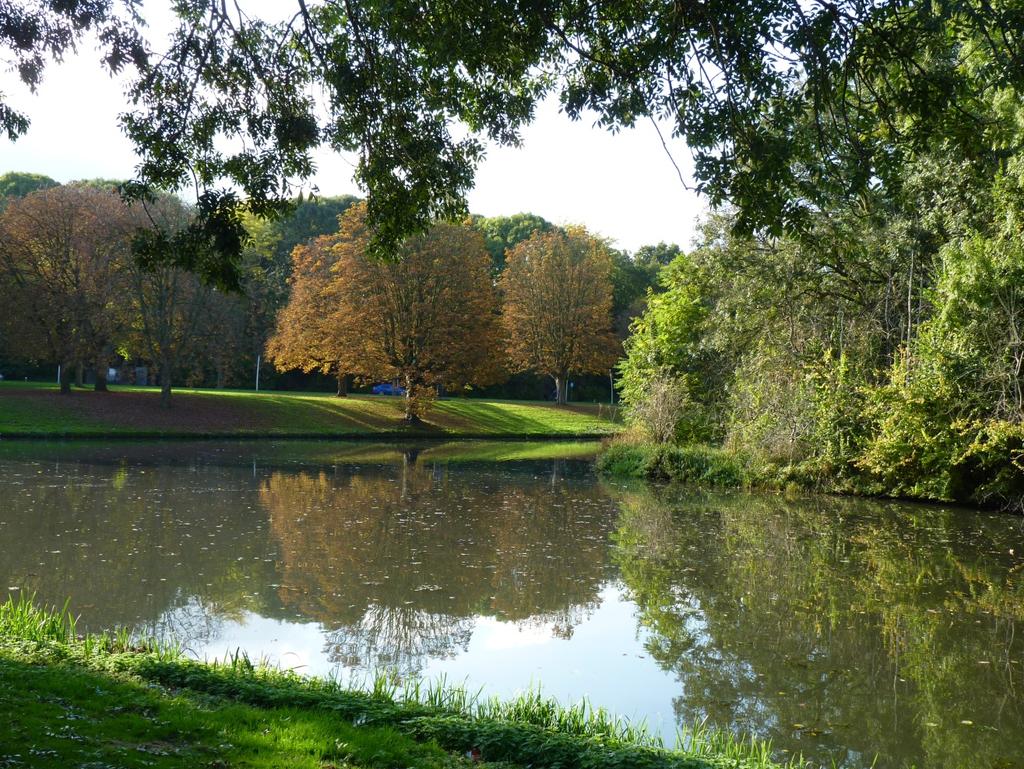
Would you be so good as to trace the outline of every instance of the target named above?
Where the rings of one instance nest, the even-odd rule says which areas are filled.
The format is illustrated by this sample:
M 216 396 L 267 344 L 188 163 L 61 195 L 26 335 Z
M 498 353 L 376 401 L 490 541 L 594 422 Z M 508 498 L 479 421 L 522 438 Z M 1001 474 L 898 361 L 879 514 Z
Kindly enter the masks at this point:
M 0 383 L 0 438 L 554 438 L 618 429 L 606 408 L 593 404 L 451 398 L 410 427 L 400 397 L 177 390 L 172 399 L 162 409 L 154 388 L 61 395 L 55 385 Z

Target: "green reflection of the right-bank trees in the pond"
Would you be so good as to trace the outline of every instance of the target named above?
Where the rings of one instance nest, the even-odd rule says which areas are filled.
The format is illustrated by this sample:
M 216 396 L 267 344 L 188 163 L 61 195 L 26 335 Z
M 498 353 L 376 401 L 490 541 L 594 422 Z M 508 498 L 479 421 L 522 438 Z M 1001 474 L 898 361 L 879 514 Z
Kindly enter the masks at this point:
M 825 765 L 1024 762 L 1019 521 L 642 492 L 615 539 L 681 720 Z

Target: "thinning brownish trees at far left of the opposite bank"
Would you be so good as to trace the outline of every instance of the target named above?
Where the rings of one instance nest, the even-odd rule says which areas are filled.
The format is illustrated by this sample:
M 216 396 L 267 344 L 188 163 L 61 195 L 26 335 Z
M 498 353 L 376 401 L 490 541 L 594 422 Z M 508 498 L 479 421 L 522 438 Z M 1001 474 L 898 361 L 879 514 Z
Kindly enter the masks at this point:
M 0 341 L 12 355 L 61 367 L 69 392 L 83 371 L 105 389 L 115 358 L 141 358 L 160 371 L 163 397 L 172 372 L 216 366 L 222 340 L 242 324 L 242 304 L 167 261 L 144 264 L 144 233 L 180 231 L 189 212 L 176 199 L 127 206 L 112 183 L 40 181 L 0 212 Z

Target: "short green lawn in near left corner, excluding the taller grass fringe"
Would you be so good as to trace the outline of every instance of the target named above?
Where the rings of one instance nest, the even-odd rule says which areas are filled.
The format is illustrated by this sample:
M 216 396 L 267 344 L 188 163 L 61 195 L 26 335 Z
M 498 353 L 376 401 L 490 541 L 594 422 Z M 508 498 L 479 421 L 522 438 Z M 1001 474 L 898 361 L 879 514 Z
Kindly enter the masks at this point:
M 0 767 L 458 769 L 472 762 L 327 710 L 254 708 L 0 651 Z

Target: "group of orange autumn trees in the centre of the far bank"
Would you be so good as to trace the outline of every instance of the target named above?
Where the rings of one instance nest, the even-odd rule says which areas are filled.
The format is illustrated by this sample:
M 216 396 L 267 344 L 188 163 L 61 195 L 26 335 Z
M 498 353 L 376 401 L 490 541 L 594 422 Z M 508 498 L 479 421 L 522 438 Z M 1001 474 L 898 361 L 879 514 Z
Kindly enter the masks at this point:
M 381 260 L 368 253 L 364 205 L 339 221 L 292 254 L 291 298 L 267 345 L 281 368 L 333 374 L 339 394 L 349 377 L 398 381 L 415 421 L 438 388 L 510 371 L 551 377 L 564 403 L 569 374 L 617 358 L 611 251 L 582 229 L 538 228 L 502 249 L 496 284 L 494 253 L 471 224 L 435 224 Z

